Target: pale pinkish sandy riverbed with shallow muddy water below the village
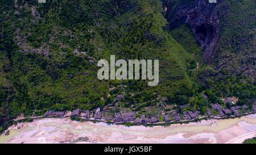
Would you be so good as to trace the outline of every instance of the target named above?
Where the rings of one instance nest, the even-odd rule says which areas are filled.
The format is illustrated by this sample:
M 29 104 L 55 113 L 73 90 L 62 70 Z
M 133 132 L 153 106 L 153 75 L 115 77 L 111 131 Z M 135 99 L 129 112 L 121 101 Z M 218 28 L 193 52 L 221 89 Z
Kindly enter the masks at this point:
M 9 136 L 0 136 L 0 143 L 71 143 L 79 137 L 88 137 L 86 143 L 242 143 L 256 135 L 256 114 L 170 127 L 125 127 L 49 118 L 19 123 L 9 130 Z

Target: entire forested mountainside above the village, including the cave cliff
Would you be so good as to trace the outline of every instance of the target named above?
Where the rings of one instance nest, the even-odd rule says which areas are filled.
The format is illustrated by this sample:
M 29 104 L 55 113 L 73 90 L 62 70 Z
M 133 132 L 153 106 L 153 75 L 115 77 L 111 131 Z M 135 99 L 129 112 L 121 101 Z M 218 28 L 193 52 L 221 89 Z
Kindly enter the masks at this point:
M 204 113 L 223 97 L 251 107 L 255 1 L 217 1 L 2 0 L 1 127 L 20 114 L 102 108 L 117 94 L 114 111 L 146 115 L 187 103 Z M 110 55 L 158 59 L 159 85 L 99 81 L 97 61 Z

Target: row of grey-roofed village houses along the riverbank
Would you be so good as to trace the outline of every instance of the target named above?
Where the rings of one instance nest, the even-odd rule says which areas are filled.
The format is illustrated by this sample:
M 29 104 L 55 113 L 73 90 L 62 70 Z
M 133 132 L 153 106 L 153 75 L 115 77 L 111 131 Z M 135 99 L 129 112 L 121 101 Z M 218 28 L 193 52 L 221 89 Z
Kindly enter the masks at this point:
M 123 98 L 123 95 L 117 96 L 117 99 L 122 99 L 122 98 Z M 76 110 L 73 110 L 72 112 L 50 110 L 50 111 L 47 111 L 44 114 L 44 116 L 46 117 L 75 116 L 76 118 L 82 118 L 85 120 L 98 120 L 102 122 L 113 122 L 113 123 L 131 122 L 134 124 L 147 124 L 147 123 L 159 122 L 159 116 L 150 116 L 150 117 L 147 117 L 145 115 L 136 116 L 135 112 L 115 112 L 113 114 L 112 112 L 110 112 L 110 110 L 108 110 L 109 106 L 106 106 L 103 111 L 101 111 L 100 108 L 97 108 L 96 112 L 95 111 L 92 112 L 89 110 L 84 111 L 84 110 L 80 110 L 79 108 L 77 108 Z M 187 108 L 189 108 L 189 104 L 180 106 L 179 111 L 181 111 L 182 114 L 180 114 L 180 112 L 178 112 L 177 110 L 170 111 L 168 114 L 162 113 L 162 116 L 163 116 L 162 119 L 164 122 L 181 122 L 185 120 L 195 120 L 197 118 L 200 118 L 199 117 L 200 111 L 188 111 Z M 254 104 L 252 108 L 253 108 L 253 111 L 256 112 L 256 104 Z M 211 109 L 207 108 L 207 115 L 209 117 L 212 117 L 213 116 L 212 112 L 217 111 L 218 117 L 220 118 L 229 116 L 229 115 L 238 116 L 242 114 L 242 112 L 244 113 L 246 109 L 247 109 L 246 105 L 243 105 L 243 106 L 232 105 L 232 107 L 230 108 L 223 108 L 220 106 L 220 104 L 214 103 L 214 104 L 211 104 Z M 162 119 L 161 119 L 161 122 L 163 122 Z

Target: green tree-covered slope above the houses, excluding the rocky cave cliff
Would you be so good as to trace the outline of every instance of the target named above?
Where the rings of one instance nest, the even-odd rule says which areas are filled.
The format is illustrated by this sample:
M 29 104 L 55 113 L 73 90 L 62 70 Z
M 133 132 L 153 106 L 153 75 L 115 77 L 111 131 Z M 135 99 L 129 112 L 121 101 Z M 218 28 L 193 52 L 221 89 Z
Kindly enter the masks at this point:
M 117 94 L 125 96 L 118 106 L 142 113 L 147 107 L 160 111 L 166 104 L 186 103 L 205 112 L 209 103 L 233 95 L 241 104 L 255 100 L 253 80 L 205 64 L 203 49 L 188 26 L 169 30 L 172 23 L 164 18 L 160 0 L 0 3 L 1 124 L 19 114 L 42 115 L 50 109 L 93 110 L 113 103 Z M 225 35 L 228 30 L 222 33 L 231 39 Z M 159 85 L 98 80 L 97 61 L 110 55 L 116 60 L 158 59 Z M 211 100 L 202 98 L 202 91 Z

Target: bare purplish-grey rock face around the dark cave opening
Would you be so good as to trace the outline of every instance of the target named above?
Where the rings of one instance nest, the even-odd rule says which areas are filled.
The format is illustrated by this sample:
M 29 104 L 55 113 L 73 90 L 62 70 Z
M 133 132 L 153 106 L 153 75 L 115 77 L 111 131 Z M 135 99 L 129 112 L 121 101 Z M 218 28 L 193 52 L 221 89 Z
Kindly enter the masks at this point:
M 209 0 L 163 2 L 164 16 L 170 23 L 170 29 L 188 24 L 204 50 L 204 59 L 212 61 L 218 41 L 219 15 L 215 9 L 216 3 L 209 3 Z

